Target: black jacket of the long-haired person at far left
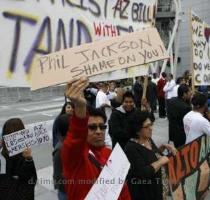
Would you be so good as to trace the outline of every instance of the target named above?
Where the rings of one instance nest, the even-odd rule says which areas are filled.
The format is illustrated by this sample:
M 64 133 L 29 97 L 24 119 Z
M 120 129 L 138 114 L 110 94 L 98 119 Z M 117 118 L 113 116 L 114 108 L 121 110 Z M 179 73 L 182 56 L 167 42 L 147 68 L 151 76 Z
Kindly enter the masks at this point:
M 22 154 L 6 158 L 6 174 L 0 177 L 0 200 L 34 200 L 36 181 L 33 160 L 26 161 Z

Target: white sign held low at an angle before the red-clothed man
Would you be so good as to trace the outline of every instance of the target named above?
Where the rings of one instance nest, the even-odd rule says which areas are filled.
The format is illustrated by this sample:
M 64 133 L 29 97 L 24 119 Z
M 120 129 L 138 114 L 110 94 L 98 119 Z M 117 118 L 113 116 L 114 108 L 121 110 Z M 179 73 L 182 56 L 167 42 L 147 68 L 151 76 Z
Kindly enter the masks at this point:
M 125 182 L 130 163 L 116 144 L 106 165 L 93 185 L 85 200 L 117 200 Z

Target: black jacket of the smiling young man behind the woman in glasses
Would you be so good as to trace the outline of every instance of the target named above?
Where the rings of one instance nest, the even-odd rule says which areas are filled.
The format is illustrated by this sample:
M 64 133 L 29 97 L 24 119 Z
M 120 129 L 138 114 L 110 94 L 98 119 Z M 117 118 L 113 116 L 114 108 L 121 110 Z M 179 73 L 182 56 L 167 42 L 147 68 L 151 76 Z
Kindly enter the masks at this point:
M 109 134 L 112 139 L 112 146 L 118 142 L 122 149 L 124 149 L 126 143 L 130 139 L 130 135 L 127 131 L 127 119 L 131 112 L 126 112 L 122 106 L 115 109 L 109 119 Z

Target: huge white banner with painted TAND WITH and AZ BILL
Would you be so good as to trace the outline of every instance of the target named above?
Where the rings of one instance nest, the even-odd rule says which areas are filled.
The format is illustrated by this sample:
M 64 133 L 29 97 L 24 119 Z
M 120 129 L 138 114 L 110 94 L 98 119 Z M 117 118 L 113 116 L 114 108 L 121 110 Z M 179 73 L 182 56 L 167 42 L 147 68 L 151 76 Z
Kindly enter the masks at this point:
M 0 85 L 29 87 L 35 57 L 137 31 L 157 0 L 0 0 Z

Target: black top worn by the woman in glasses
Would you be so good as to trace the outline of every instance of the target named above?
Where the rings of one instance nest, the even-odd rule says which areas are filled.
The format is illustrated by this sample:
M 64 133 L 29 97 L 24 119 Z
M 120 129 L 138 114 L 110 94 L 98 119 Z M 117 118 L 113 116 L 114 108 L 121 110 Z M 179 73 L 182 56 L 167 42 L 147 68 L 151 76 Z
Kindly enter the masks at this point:
M 131 164 L 127 183 L 132 200 L 162 200 L 161 170 L 155 173 L 151 164 L 157 161 L 155 153 L 160 153 L 152 143 L 152 150 L 129 141 L 125 146 L 125 154 Z

